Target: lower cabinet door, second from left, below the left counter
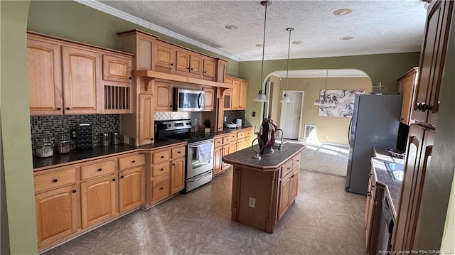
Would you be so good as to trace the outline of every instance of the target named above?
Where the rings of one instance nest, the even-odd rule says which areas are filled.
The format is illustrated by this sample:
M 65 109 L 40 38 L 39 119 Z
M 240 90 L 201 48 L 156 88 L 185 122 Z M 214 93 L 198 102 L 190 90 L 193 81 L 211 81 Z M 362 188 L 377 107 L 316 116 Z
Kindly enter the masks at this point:
M 80 183 L 82 229 L 117 214 L 117 174 Z

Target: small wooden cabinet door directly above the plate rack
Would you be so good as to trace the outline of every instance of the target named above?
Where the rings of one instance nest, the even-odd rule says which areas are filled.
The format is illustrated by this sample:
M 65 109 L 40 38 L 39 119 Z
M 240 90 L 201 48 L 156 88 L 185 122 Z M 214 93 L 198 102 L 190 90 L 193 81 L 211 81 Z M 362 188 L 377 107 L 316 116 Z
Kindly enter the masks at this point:
M 132 58 L 102 55 L 102 80 L 131 83 Z

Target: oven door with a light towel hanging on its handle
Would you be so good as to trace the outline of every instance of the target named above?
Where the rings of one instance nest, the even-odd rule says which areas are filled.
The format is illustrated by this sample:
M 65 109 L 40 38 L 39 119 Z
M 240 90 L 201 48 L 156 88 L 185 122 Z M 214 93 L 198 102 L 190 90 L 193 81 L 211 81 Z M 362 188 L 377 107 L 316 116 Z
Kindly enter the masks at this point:
M 213 139 L 188 143 L 186 179 L 213 169 Z

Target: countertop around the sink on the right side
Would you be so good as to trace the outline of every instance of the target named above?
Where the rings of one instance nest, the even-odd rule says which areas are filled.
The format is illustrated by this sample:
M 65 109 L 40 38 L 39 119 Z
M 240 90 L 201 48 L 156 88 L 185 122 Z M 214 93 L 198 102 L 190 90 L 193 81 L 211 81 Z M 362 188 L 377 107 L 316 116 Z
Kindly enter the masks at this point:
M 371 166 L 375 170 L 375 176 L 378 183 L 385 185 L 385 192 L 387 195 L 387 201 L 392 209 L 392 217 L 395 222 L 397 219 L 398 203 L 400 202 L 400 192 L 402 180 L 395 180 L 392 178 L 391 173 L 385 167 L 385 162 L 393 162 L 404 164 L 405 160 L 400 158 L 393 158 L 389 156 L 385 148 L 373 148 L 374 157 L 371 158 Z

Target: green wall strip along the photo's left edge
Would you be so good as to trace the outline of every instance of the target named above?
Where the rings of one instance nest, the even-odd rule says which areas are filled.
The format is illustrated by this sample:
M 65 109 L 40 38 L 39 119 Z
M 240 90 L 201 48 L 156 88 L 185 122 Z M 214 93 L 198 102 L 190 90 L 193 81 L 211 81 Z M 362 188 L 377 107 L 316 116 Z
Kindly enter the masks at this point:
M 10 252 L 36 254 L 25 33 L 29 1 L 0 1 L 0 4 L 2 159 Z

